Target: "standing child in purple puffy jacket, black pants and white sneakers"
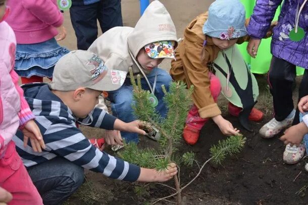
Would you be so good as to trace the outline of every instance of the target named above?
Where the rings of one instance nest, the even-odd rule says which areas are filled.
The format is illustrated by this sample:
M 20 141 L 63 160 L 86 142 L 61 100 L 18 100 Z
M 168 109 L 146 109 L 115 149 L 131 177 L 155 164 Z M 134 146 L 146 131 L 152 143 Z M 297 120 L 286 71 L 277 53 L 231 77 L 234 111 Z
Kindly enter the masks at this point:
M 247 31 L 251 39 L 248 53 L 255 57 L 261 39 L 266 35 L 282 0 L 259 0 L 253 10 Z M 275 116 L 261 129 L 263 138 L 272 138 L 282 129 L 298 124 L 298 109 L 294 110 L 292 84 L 296 77 L 296 66 L 305 72 L 299 86 L 298 99 L 308 94 L 308 4 L 307 0 L 286 0 L 281 9 L 278 25 L 273 29 L 271 51 L 273 54 L 268 83 L 273 96 Z M 288 164 L 298 162 L 304 155 L 304 146 L 287 145 L 283 158 Z

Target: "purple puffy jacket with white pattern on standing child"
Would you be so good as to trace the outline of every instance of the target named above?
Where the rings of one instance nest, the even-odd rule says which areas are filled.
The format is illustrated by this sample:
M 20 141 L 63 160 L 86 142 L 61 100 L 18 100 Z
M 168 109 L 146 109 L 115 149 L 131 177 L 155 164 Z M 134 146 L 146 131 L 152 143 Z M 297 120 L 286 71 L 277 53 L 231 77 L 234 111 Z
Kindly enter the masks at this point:
M 305 31 L 305 37 L 297 42 L 289 39 L 290 31 L 295 27 L 296 9 L 304 0 L 285 0 L 278 19 L 278 25 L 273 29 L 271 44 L 272 54 L 278 58 L 308 69 L 308 2 L 300 13 L 298 27 Z M 282 0 L 257 0 L 247 27 L 253 38 L 263 38 L 274 18 L 276 9 Z

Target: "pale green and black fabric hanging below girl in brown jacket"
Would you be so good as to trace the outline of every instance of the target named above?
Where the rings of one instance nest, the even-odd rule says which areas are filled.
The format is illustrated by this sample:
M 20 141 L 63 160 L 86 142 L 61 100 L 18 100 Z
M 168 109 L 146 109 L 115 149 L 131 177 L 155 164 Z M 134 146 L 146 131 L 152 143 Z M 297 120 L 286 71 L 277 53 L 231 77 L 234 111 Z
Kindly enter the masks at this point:
M 253 107 L 259 96 L 258 83 L 253 74 L 249 72 L 248 66 L 246 66 L 236 45 L 226 49 L 224 52 L 226 57 L 223 56 L 222 52 L 219 52 L 213 63 L 216 71 L 215 75 L 221 83 L 221 93 L 237 107 L 243 107 L 243 101 L 245 101 L 246 107 Z M 231 65 L 232 71 L 230 70 Z M 230 74 L 230 80 L 227 89 L 226 77 L 228 73 Z

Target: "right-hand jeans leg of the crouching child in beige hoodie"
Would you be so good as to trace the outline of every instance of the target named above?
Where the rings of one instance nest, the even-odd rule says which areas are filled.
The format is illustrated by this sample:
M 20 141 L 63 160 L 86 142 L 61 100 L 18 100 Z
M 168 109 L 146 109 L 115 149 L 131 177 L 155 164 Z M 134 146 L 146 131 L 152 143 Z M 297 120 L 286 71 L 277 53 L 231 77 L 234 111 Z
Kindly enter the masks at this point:
M 151 87 L 153 88 L 153 84 L 155 82 L 155 75 L 157 75 L 157 81 L 155 86 L 154 94 L 158 99 L 158 105 L 156 106 L 156 110 L 160 113 L 162 117 L 166 117 L 168 109 L 166 108 L 166 104 L 163 101 L 163 97 L 165 96 L 162 85 L 165 86 L 167 92 L 169 91 L 169 85 L 172 81 L 171 76 L 164 70 L 156 68 L 151 71 L 148 75 L 146 75 Z M 145 78 L 141 79 L 141 86 L 144 90 L 149 90 L 149 87 L 146 83 Z

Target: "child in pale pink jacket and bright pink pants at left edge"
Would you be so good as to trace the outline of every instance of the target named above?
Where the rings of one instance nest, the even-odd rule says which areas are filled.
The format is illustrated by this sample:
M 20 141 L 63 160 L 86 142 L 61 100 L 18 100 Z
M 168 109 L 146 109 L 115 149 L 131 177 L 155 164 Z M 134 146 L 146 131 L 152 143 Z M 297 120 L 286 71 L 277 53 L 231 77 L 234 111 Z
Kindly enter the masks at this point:
M 29 105 L 18 86 L 18 75 L 14 71 L 16 40 L 13 30 L 4 22 L 8 16 L 5 0 L 0 0 L 0 188 L 8 195 L 1 202 L 10 204 L 42 204 L 42 199 L 33 185 L 12 141 L 17 129 L 26 134 L 24 144 L 30 138 L 34 151 L 41 151 L 44 142 L 35 124 Z M 23 144 L 23 142 L 20 142 Z

